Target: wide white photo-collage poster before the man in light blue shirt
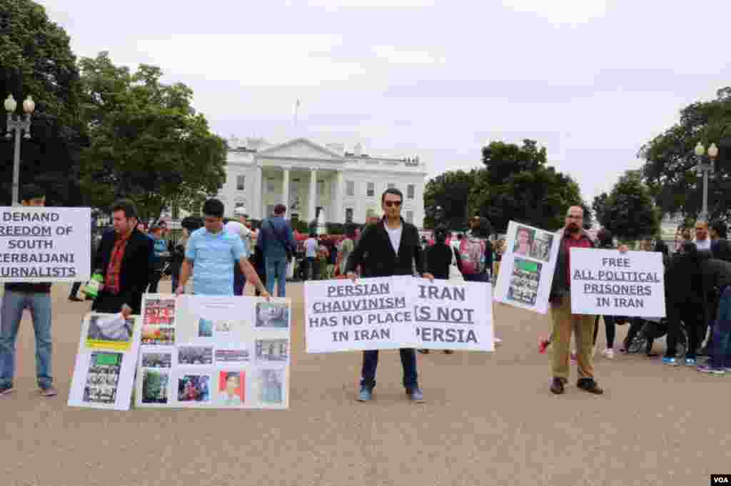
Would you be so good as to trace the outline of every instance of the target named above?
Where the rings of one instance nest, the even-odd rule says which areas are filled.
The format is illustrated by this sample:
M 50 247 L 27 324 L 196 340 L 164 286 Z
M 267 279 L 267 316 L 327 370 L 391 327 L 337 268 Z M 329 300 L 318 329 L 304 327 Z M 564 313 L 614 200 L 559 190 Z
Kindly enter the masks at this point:
M 143 308 L 166 308 L 160 297 L 145 296 L 153 302 Z M 172 341 L 157 333 L 167 327 L 150 327 L 147 344 L 143 338 L 136 405 L 287 409 L 290 323 L 285 299 L 178 297 L 172 323 L 150 324 L 172 326 Z

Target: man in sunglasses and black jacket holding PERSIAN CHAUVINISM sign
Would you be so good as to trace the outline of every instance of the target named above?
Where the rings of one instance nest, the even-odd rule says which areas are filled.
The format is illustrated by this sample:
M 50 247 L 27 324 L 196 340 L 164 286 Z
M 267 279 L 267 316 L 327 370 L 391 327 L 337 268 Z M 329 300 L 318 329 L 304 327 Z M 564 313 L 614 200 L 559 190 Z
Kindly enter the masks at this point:
M 430 273 L 424 273 L 422 248 L 419 232 L 413 224 L 401 218 L 401 203 L 404 194 L 398 189 L 386 189 L 381 197 L 384 217 L 378 224 L 368 227 L 355 246 L 346 265 L 346 273 L 355 282 L 355 269 L 360 265 L 363 277 L 390 277 L 414 275 L 414 264 L 419 275 L 433 280 Z M 419 388 L 416 371 L 416 352 L 402 348 L 401 365 L 404 367 L 404 387 L 409 398 L 423 402 L 424 395 Z M 378 350 L 363 352 L 363 370 L 360 379 L 358 400 L 368 401 L 373 397 L 376 386 Z

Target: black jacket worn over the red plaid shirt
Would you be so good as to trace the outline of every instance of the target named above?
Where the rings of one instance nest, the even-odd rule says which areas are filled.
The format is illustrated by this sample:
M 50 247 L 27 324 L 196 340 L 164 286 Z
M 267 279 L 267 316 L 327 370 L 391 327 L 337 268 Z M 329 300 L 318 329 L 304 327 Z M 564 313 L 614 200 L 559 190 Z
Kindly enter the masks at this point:
M 112 249 L 117 234 L 114 231 L 106 232 L 99 243 L 99 250 L 96 251 L 94 270 L 102 270 L 102 275 L 107 276 L 107 267 L 112 257 Z M 152 270 L 153 241 L 137 228 L 129 236 L 124 257 L 119 269 L 119 300 L 132 308 L 133 314 L 140 314 L 142 307 L 142 295 L 149 283 L 149 276 Z M 102 292 L 99 295 L 105 295 Z M 99 300 L 99 297 L 97 297 Z M 92 308 L 96 309 L 98 303 L 94 301 Z

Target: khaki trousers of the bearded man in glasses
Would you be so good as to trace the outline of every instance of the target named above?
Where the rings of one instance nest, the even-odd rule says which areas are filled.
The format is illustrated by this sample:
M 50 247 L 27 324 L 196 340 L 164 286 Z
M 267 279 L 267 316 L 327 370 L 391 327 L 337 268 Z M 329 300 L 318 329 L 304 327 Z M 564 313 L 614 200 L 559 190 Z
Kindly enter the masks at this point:
M 569 379 L 571 333 L 576 341 L 576 362 L 579 378 L 594 378 L 594 316 L 571 314 L 571 297 L 551 303 L 551 373 L 554 378 Z

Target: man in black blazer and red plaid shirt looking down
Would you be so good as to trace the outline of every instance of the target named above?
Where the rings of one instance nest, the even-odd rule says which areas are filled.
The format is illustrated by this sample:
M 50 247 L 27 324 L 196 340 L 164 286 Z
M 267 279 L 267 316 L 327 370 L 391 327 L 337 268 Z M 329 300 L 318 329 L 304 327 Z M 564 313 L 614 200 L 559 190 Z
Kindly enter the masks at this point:
M 151 272 L 153 241 L 137 229 L 137 208 L 129 200 L 112 207 L 114 231 L 106 232 L 96 251 L 94 269 L 104 281 L 92 311 L 140 314 Z

